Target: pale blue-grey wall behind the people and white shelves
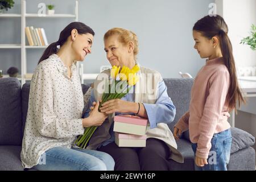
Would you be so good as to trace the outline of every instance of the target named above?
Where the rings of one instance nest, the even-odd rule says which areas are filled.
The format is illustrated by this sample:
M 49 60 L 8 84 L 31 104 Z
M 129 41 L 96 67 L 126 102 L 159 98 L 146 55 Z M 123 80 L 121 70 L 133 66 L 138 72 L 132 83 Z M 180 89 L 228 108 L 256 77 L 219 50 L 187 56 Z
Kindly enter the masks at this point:
M 53 3 L 55 13 L 74 13 L 75 1 L 27 0 L 27 12 L 37 13 L 40 2 Z M 92 54 L 84 60 L 86 73 L 98 73 L 108 65 L 104 52 L 104 33 L 113 27 L 132 30 L 139 39 L 138 61 L 162 73 L 163 77 L 180 77 L 178 72 L 196 76 L 204 65 L 193 49 L 192 27 L 197 19 L 208 14 L 213 0 L 80 0 L 79 21 L 96 32 Z M 15 1 L 8 13 L 20 13 Z M 43 27 L 48 42 L 55 42 L 60 31 L 73 19 L 27 18 L 26 26 Z M 20 43 L 20 18 L 0 18 L 0 44 Z M 33 72 L 43 49 L 27 49 L 27 72 Z M 20 69 L 20 49 L 0 49 L 0 69 Z

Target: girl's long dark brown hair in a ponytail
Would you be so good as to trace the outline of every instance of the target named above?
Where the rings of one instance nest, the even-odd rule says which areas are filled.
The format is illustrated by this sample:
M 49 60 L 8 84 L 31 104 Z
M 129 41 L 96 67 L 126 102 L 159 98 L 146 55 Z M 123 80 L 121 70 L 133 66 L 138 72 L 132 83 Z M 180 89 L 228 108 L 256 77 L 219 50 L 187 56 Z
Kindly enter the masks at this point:
M 212 39 L 213 36 L 218 36 L 220 40 L 221 53 L 224 58 L 224 64 L 228 68 L 230 74 L 230 87 L 227 94 L 229 101 L 229 111 L 236 110 L 236 102 L 238 105 L 241 102 L 245 103 L 244 98 L 237 81 L 236 65 L 233 56 L 232 44 L 228 37 L 228 26 L 225 20 L 220 16 L 205 16 L 198 20 L 193 27 L 193 30 L 201 32 L 203 36 L 208 39 Z

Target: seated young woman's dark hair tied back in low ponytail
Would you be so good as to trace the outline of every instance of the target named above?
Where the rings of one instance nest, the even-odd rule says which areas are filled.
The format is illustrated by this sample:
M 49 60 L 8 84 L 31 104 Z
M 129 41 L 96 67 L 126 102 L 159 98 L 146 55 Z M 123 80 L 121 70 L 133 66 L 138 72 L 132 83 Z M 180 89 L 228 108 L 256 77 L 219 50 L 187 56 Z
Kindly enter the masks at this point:
M 42 57 L 40 58 L 38 64 L 47 59 L 49 56 L 51 56 L 53 53 L 57 53 L 57 46 L 62 46 L 68 39 L 68 37 L 71 35 L 71 31 L 73 29 L 76 29 L 79 34 L 92 34 L 94 36 L 94 31 L 92 28 L 86 26 L 86 24 L 81 22 L 72 22 L 69 23 L 67 27 L 63 29 L 63 31 L 60 32 L 60 37 L 57 42 L 53 42 L 49 44 L 49 46 L 44 51 Z

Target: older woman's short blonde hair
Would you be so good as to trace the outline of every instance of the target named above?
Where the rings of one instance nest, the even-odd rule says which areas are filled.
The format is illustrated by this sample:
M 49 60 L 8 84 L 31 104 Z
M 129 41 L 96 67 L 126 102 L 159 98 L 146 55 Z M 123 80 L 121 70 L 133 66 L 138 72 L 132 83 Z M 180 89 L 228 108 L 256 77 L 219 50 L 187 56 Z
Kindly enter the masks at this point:
M 112 35 L 118 35 L 119 42 L 123 43 L 124 45 L 127 45 L 130 41 L 133 42 L 134 44 L 133 53 L 136 59 L 136 56 L 139 52 L 137 35 L 134 34 L 134 32 L 130 30 L 126 30 L 124 28 L 112 28 L 105 33 L 104 41 Z

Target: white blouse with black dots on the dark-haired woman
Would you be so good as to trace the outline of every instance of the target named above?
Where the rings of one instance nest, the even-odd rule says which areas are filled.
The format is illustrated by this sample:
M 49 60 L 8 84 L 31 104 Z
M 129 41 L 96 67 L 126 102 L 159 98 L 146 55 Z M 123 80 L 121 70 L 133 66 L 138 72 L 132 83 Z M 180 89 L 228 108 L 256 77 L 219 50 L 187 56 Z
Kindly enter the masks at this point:
M 75 64 L 71 73 L 69 78 L 67 67 L 56 54 L 35 69 L 20 154 L 24 168 L 36 166 L 50 148 L 71 148 L 76 136 L 84 133 L 84 97 Z

